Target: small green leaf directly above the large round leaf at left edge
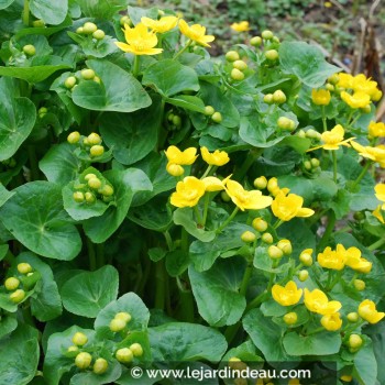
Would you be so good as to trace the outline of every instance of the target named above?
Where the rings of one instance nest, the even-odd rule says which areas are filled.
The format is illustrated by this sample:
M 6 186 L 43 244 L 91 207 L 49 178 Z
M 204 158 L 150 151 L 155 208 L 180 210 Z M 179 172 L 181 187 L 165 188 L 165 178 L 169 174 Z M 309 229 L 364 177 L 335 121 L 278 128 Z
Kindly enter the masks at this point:
M 38 163 L 38 168 L 46 178 L 65 186 L 74 180 L 80 170 L 81 162 L 74 154 L 69 143 L 54 144 Z

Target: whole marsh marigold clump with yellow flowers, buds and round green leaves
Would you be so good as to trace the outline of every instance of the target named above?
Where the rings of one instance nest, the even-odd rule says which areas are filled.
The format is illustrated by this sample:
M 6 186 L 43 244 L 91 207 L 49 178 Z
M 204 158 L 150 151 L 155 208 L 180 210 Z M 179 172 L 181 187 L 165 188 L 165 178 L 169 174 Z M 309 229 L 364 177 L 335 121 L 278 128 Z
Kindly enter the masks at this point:
M 172 11 L 0 4 L 0 383 L 385 381 L 375 81 L 267 30 L 212 61 Z

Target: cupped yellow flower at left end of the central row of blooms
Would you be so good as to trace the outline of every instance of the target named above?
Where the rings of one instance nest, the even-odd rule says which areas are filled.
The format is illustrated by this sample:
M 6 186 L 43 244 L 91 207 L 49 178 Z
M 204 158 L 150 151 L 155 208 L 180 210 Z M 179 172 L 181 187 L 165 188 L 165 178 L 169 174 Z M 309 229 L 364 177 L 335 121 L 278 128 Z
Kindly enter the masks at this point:
M 194 207 L 205 195 L 206 186 L 194 176 L 186 176 L 176 185 L 176 193 L 172 194 L 170 202 L 176 207 Z

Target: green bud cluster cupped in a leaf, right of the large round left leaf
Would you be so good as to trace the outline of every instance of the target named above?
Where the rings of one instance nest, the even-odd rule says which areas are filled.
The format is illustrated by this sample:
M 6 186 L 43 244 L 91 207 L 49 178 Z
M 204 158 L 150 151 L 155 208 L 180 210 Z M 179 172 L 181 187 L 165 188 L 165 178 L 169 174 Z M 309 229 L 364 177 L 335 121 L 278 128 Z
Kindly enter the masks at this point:
M 92 205 L 97 199 L 101 199 L 105 202 L 110 202 L 113 199 L 113 187 L 105 178 L 99 178 L 97 175 L 89 173 L 85 175 L 84 180 L 75 186 L 76 191 L 73 197 L 78 204 Z

